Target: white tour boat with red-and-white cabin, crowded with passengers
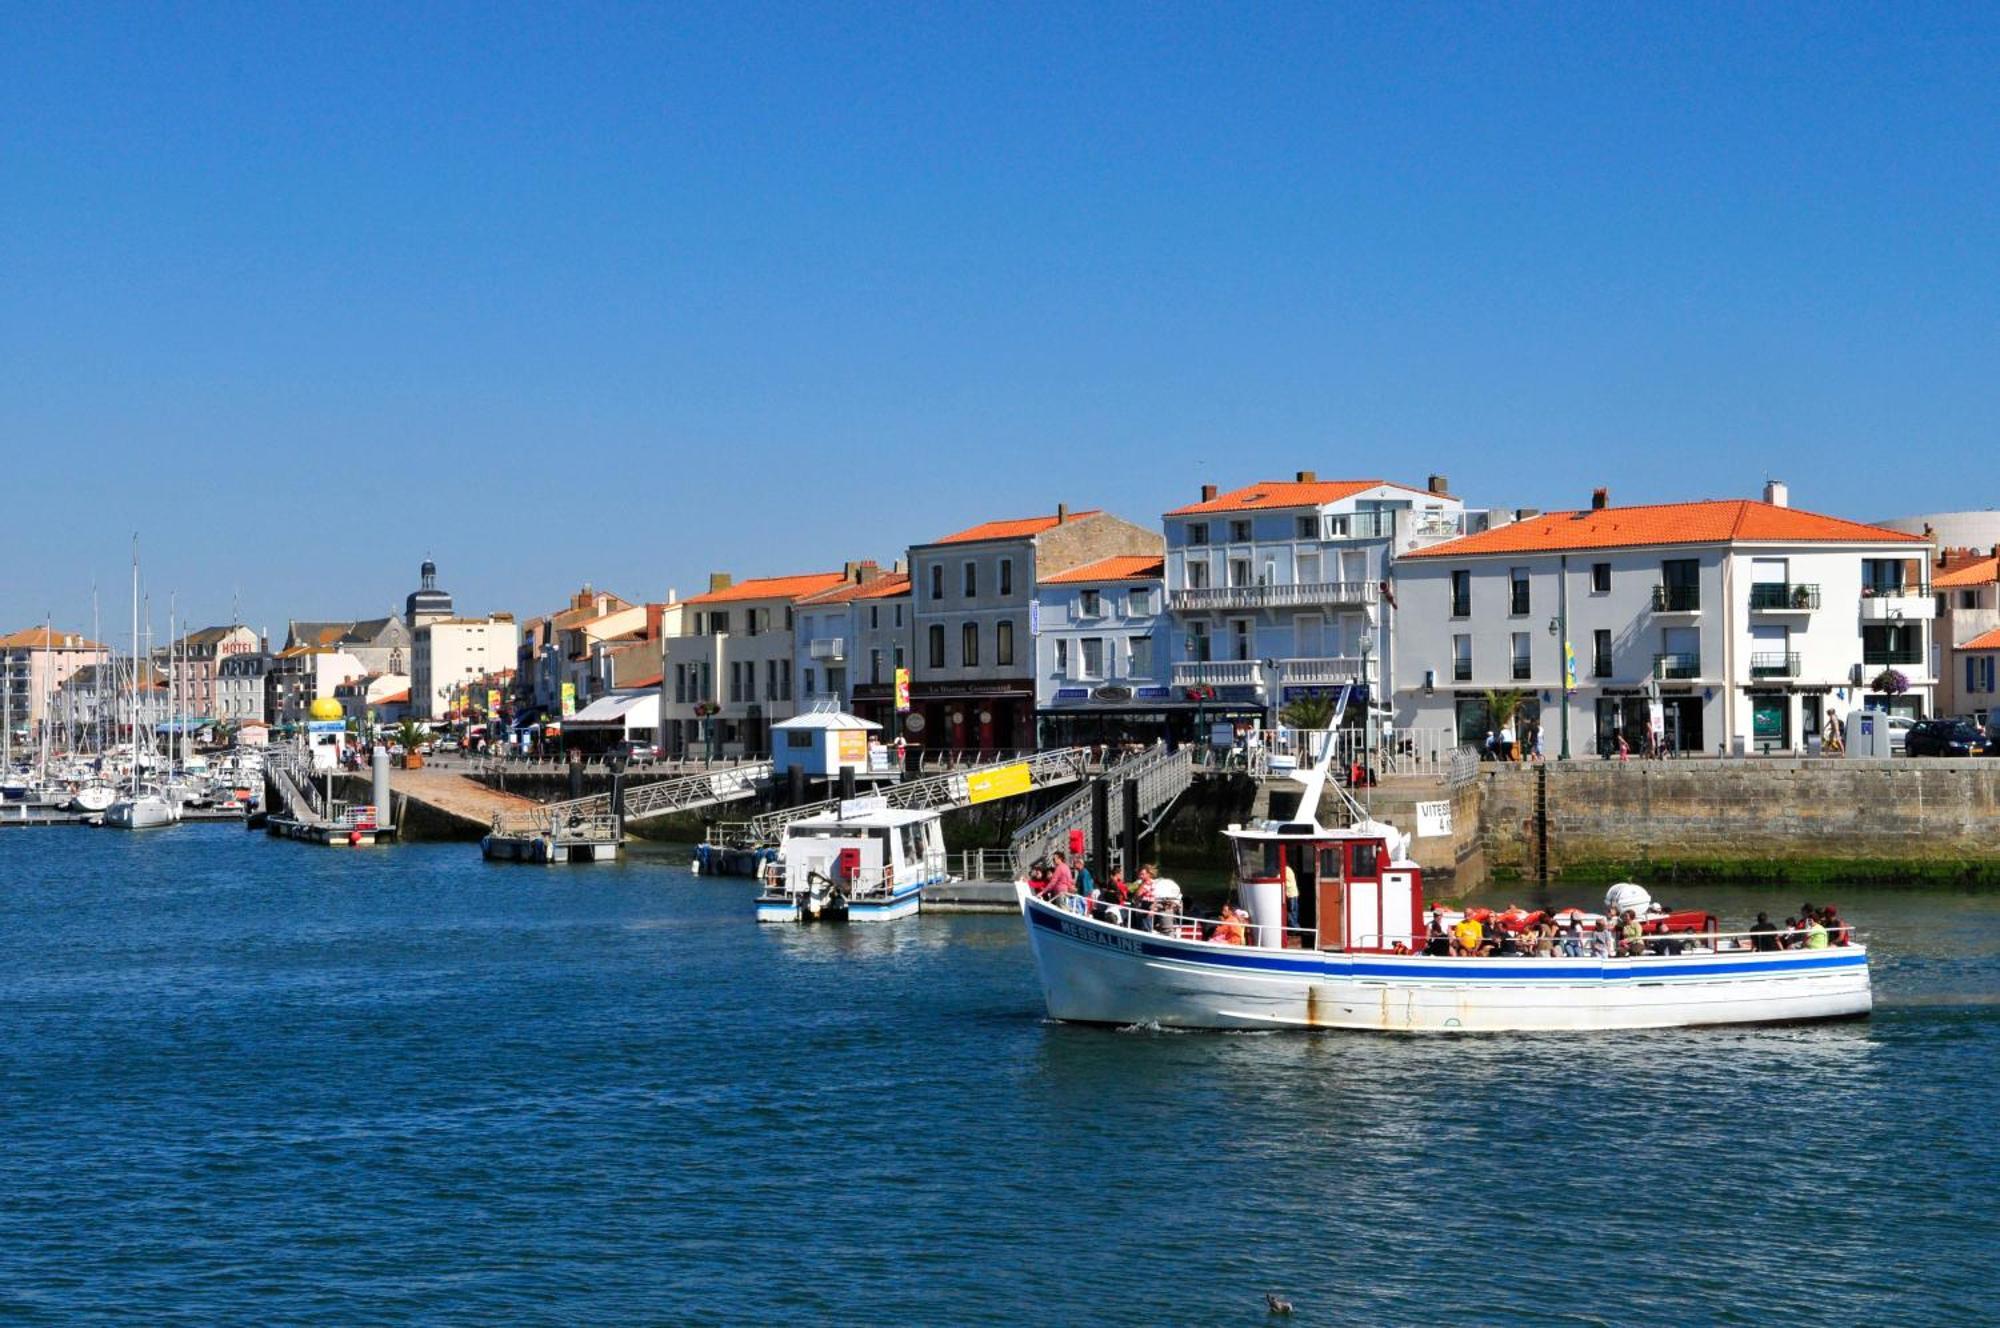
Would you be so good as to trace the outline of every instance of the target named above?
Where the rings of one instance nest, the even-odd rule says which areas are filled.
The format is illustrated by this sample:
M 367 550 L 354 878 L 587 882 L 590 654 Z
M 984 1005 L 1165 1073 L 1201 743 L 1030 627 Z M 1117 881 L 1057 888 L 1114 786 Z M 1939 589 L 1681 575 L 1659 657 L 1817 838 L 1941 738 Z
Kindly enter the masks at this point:
M 1294 820 L 1226 830 L 1242 912 L 1220 930 L 1224 940 L 1178 910 L 1088 916 L 1074 896 L 1050 902 L 1018 882 L 1048 1014 L 1166 1028 L 1568 1032 L 1870 1010 L 1866 946 L 1766 950 L 1758 942 L 1770 938 L 1716 932 L 1712 918 L 1692 932 L 1654 922 L 1648 952 L 1624 958 L 1422 954 L 1424 872 L 1408 858 L 1408 836 L 1370 822 L 1352 798 L 1354 826 L 1320 826 L 1326 768 L 1322 756 L 1300 776 Z M 1298 928 L 1286 926 L 1286 868 L 1298 884 Z M 1620 890 L 1632 888 L 1614 886 L 1608 908 L 1624 902 Z

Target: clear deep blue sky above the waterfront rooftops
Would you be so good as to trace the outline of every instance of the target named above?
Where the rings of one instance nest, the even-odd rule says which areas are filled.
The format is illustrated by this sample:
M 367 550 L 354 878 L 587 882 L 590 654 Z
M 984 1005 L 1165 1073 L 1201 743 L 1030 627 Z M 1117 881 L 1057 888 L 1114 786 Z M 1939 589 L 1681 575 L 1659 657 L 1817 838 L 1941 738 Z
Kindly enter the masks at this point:
M 2000 8 L 8 6 L 0 628 L 1314 468 L 1992 506 Z

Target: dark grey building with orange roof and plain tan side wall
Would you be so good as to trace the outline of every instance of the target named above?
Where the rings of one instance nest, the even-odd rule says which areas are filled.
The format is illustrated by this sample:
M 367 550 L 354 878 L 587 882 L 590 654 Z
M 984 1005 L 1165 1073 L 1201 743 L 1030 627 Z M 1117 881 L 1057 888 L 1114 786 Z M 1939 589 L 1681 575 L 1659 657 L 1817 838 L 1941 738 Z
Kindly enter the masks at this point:
M 1114 556 L 1160 556 L 1160 534 L 1110 512 L 992 520 L 910 548 L 914 662 L 904 732 L 928 748 L 1036 742 L 1040 580 Z

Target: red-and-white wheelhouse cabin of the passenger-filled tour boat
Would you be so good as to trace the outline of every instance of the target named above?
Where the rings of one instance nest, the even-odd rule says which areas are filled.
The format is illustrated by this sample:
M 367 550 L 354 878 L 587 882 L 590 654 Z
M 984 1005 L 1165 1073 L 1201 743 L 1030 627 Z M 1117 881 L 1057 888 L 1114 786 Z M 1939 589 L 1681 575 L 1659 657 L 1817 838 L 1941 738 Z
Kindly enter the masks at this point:
M 1248 942 L 1360 954 L 1424 944 L 1424 868 L 1390 826 L 1328 830 L 1314 822 L 1260 822 L 1224 832 L 1236 856 L 1236 892 L 1250 912 Z M 1298 928 L 1286 932 L 1284 870 L 1298 882 Z

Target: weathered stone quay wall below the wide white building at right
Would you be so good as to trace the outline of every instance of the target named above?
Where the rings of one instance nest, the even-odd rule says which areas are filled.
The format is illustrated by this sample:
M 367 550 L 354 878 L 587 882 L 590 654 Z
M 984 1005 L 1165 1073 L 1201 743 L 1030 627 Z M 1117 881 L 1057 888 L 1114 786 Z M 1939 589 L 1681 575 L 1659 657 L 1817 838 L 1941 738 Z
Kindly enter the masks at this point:
M 1482 766 L 1498 880 L 2000 886 L 2000 760 L 1668 760 Z

